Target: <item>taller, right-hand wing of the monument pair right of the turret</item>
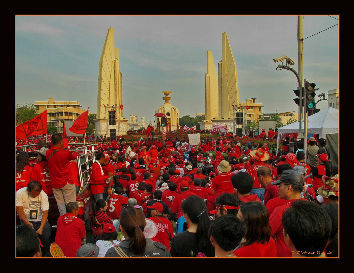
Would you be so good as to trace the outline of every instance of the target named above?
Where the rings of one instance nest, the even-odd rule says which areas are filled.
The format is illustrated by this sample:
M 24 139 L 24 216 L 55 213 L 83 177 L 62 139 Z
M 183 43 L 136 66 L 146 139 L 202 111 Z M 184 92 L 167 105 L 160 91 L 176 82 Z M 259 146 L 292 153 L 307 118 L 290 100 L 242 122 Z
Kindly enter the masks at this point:
M 222 61 L 219 62 L 219 115 L 232 117 L 233 106 L 239 106 L 238 80 L 234 55 L 226 32 L 222 33 Z

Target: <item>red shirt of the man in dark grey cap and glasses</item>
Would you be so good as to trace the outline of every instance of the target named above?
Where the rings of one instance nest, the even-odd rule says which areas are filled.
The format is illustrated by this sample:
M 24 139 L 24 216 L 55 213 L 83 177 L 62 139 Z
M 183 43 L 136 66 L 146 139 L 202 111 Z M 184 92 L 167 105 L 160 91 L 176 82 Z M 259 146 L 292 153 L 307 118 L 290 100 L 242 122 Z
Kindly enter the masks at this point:
M 299 198 L 302 200 L 306 200 L 303 198 Z M 277 257 L 291 257 L 291 250 L 289 246 L 285 244 L 284 241 L 284 233 L 283 233 L 283 225 L 281 224 L 281 217 L 286 208 L 291 206 L 291 203 L 297 199 L 292 199 L 286 202 L 285 205 L 279 206 L 275 208 L 273 213 L 269 217 L 269 224 L 272 227 L 272 234 L 270 236 L 274 237 L 276 234 L 276 256 Z

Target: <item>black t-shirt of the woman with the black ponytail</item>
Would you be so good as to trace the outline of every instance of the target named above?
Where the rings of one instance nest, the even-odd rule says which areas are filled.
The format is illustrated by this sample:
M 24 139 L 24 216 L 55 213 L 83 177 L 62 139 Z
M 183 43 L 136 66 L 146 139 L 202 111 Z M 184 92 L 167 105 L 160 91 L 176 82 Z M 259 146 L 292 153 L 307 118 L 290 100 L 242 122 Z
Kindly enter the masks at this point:
M 205 254 L 206 257 L 215 256 L 215 248 L 211 244 L 207 249 L 198 249 L 196 233 L 186 230 L 173 236 L 170 250 L 172 257 L 196 257 L 199 252 Z

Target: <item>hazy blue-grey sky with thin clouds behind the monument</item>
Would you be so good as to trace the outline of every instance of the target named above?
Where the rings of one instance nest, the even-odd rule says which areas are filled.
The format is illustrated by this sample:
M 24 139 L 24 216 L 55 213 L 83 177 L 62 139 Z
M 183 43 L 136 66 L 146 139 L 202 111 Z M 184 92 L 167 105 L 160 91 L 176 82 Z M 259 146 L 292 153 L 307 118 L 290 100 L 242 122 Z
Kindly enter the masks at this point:
M 338 15 L 331 15 L 338 19 Z M 330 16 L 303 16 L 303 38 L 334 26 Z M 154 122 L 162 91 L 180 117 L 205 112 L 207 50 L 221 60 L 226 32 L 235 58 L 239 99 L 257 98 L 263 113 L 298 112 L 295 74 L 276 71 L 287 55 L 298 71 L 297 16 L 16 16 L 16 104 L 76 100 L 95 113 L 99 59 L 114 28 L 124 117 Z M 339 88 L 339 25 L 303 41 L 303 77 L 316 94 Z M 217 69 L 216 69 L 217 71 Z M 317 97 L 316 97 L 317 99 Z M 327 108 L 321 101 L 317 108 Z

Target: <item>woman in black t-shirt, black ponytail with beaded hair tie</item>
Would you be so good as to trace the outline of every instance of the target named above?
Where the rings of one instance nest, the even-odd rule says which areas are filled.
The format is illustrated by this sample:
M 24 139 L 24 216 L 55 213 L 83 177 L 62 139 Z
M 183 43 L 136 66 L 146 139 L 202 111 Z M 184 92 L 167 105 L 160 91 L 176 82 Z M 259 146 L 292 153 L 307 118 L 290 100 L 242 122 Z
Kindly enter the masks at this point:
M 196 257 L 199 252 L 206 257 L 214 257 L 215 249 L 207 232 L 211 221 L 204 200 L 197 195 L 188 196 L 181 208 L 189 228 L 173 236 L 170 250 L 172 257 Z

